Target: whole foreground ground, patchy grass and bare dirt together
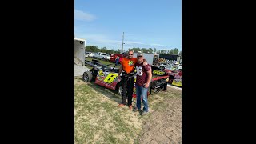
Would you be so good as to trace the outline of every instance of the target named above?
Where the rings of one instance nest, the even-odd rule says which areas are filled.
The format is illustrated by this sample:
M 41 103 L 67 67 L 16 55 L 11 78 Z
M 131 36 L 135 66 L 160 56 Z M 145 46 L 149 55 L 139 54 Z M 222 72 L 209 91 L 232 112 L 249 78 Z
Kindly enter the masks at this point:
M 150 114 L 140 116 L 118 107 L 121 97 L 113 90 L 81 78 L 74 86 L 75 143 L 182 143 L 182 90 L 151 95 Z

